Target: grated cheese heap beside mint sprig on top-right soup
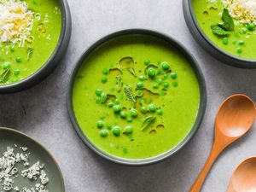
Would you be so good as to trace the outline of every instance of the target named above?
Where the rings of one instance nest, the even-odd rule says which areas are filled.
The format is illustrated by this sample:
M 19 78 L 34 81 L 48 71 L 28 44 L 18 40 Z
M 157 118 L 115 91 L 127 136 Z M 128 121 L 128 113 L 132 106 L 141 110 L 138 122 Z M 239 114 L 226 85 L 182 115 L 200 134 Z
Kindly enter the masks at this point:
M 230 15 L 241 23 L 253 22 L 256 25 L 256 0 L 223 0 Z

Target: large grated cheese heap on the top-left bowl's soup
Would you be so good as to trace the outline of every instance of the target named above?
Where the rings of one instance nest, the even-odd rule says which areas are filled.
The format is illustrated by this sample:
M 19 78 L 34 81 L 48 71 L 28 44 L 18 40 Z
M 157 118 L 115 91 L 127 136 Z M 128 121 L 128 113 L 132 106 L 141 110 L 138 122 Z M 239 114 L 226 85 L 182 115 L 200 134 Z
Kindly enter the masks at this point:
M 20 0 L 0 0 L 0 42 L 20 44 L 31 41 L 34 14 Z

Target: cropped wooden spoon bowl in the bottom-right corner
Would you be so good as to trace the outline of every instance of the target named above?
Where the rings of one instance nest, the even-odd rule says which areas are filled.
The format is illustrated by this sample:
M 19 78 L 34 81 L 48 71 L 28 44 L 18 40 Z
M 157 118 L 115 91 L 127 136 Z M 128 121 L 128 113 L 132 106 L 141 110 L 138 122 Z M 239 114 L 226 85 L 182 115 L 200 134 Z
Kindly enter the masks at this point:
M 233 173 L 227 192 L 256 191 L 256 157 L 243 161 Z

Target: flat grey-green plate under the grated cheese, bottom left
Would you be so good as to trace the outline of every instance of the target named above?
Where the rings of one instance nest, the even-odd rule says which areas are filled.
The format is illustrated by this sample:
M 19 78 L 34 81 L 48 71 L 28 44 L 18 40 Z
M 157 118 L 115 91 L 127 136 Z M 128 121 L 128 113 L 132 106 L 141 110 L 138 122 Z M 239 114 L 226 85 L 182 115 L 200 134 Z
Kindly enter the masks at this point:
M 49 177 L 47 189 L 52 192 L 65 192 L 64 179 L 59 166 L 53 156 L 49 154 L 49 151 L 40 143 L 20 131 L 4 127 L 0 127 L 0 143 L 0 156 L 3 156 L 3 152 L 6 151 L 7 147 L 15 148 L 15 144 L 18 147 L 28 148 L 27 151 L 31 153 L 29 156 L 29 162 L 32 164 L 39 160 L 40 163 L 44 164 L 44 171 L 46 172 L 47 177 Z M 18 149 L 15 148 L 15 150 Z M 20 187 L 32 187 L 27 186 L 28 183 L 27 179 L 20 176 L 15 178 L 15 183 L 13 185 L 18 185 Z M 38 182 L 33 182 L 33 185 L 35 183 Z

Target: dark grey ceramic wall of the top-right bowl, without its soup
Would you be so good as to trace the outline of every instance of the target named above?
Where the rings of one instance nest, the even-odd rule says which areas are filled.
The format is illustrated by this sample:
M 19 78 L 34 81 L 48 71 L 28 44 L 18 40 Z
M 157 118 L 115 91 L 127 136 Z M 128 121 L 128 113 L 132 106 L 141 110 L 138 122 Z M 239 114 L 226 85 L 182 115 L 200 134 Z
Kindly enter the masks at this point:
M 187 26 L 189 26 L 189 31 L 197 43 L 200 44 L 203 49 L 206 49 L 214 58 L 223 61 L 225 64 L 239 68 L 256 68 L 256 60 L 248 60 L 231 55 L 212 43 L 212 40 L 201 30 L 195 18 L 192 1 L 193 0 L 183 0 L 183 15 Z

